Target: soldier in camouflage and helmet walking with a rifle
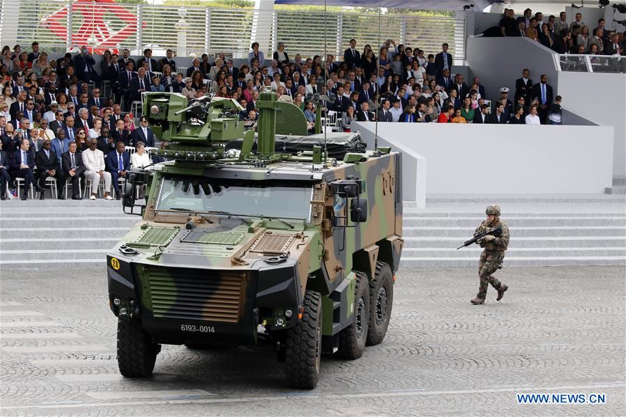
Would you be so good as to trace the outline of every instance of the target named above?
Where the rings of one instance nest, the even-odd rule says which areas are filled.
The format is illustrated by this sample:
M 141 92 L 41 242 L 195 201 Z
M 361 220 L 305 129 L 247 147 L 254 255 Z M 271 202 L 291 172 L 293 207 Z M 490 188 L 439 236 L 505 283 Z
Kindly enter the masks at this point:
M 485 213 L 487 214 L 487 220 L 480 223 L 474 235 L 483 233 L 496 226 L 500 226 L 502 232 L 500 236 L 487 235 L 476 242 L 476 244 L 480 244 L 480 247 L 485 250 L 480 254 L 480 260 L 478 261 L 480 287 L 478 288 L 476 298 L 470 301 L 471 304 L 485 304 L 487 288 L 489 287 L 488 284 L 491 284 L 492 287 L 498 291 L 496 301 L 500 301 L 504 296 L 504 292 L 508 290 L 507 285 L 504 285 L 498 281 L 496 277 L 492 276 L 492 274 L 501 267 L 502 261 L 504 260 L 504 251 L 508 249 L 508 240 L 510 238 L 508 227 L 506 223 L 500 219 L 500 207 L 497 205 L 487 206 Z

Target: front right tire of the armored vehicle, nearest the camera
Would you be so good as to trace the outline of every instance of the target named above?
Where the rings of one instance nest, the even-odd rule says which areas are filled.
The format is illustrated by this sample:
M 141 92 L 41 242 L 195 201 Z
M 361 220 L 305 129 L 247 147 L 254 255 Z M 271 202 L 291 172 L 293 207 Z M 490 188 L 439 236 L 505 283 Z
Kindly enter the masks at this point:
M 306 291 L 302 320 L 287 331 L 285 377 L 293 388 L 313 389 L 320 377 L 322 358 L 322 299 Z

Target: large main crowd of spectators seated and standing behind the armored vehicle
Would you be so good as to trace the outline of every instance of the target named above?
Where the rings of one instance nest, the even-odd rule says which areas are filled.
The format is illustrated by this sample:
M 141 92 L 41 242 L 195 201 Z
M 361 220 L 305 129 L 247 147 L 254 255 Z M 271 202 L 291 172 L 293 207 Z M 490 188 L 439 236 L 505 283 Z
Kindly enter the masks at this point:
M 393 40 L 376 50 L 370 45 L 361 49 L 352 39 L 343 60 L 336 60 L 331 54 L 305 59 L 296 53 L 291 58 L 283 42 L 269 59 L 255 42 L 243 65 L 236 67 L 224 53 L 216 54 L 212 63 L 208 54 L 202 54 L 184 71 L 171 49 L 162 58 L 153 58 L 152 50 L 145 49 L 137 61 L 128 49 L 120 54 L 105 51 L 96 64 L 86 46 L 74 56 L 68 53 L 54 60 L 33 42 L 31 52 L 7 46 L 0 56 L 3 200 L 10 194 L 6 189 L 18 194 L 18 182 L 24 187 L 21 198 L 26 199 L 30 189 L 42 191 L 49 178 L 56 180 L 57 198 L 81 199 L 80 187 L 92 200 L 99 187 L 104 189 L 103 198 L 120 198 L 118 180 L 130 167 L 150 164 L 146 148 L 158 145 L 148 120 L 130 112 L 132 103 L 141 102 L 142 93 L 150 91 L 180 93 L 189 100 L 208 94 L 232 98 L 244 109 L 240 119 L 253 127 L 259 92 L 273 88 L 279 100 L 302 109 L 310 132 L 317 106 L 324 118 L 334 112 L 336 127 L 344 132 L 350 132 L 353 121 L 375 120 L 561 123 L 561 97 L 552 97 L 545 76 L 533 84 L 524 70 L 513 101 L 508 88 L 488 100 L 479 77 L 466 83 L 462 74 L 451 75 L 453 55 L 446 43 L 437 54 L 427 54 Z M 110 92 L 107 97 L 102 94 L 104 86 Z M 314 101 L 319 95 L 330 98 Z M 128 150 L 136 152 L 130 155 Z M 66 180 L 67 187 L 72 186 L 67 196 Z M 40 198 L 45 198 L 43 192 Z

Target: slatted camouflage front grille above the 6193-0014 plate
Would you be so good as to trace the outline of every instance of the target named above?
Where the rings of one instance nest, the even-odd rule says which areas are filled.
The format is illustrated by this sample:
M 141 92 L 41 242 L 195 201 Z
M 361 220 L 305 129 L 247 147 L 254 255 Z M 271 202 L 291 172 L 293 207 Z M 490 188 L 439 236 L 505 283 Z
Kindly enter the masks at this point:
M 148 267 L 152 315 L 157 318 L 236 323 L 245 272 Z

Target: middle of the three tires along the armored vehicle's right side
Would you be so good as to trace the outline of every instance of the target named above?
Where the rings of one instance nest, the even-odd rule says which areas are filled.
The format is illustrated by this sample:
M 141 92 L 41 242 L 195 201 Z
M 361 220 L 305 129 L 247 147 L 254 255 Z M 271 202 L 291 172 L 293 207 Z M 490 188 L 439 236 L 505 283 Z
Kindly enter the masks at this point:
M 370 322 L 370 287 L 368 277 L 357 272 L 354 289 L 354 322 L 339 332 L 338 356 L 343 359 L 358 359 L 363 354 Z

